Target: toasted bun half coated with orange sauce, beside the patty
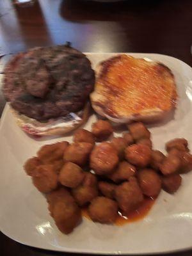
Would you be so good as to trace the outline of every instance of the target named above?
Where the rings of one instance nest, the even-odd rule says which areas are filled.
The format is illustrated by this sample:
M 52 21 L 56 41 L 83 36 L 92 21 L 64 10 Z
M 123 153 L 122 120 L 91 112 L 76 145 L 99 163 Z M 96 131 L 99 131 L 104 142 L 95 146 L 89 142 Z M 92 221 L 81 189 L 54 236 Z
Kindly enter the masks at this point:
M 171 70 L 155 61 L 121 54 L 100 63 L 92 106 L 113 122 L 170 111 L 177 99 Z

